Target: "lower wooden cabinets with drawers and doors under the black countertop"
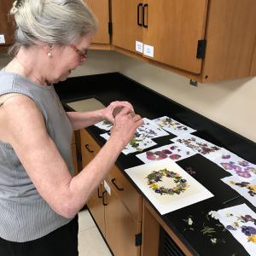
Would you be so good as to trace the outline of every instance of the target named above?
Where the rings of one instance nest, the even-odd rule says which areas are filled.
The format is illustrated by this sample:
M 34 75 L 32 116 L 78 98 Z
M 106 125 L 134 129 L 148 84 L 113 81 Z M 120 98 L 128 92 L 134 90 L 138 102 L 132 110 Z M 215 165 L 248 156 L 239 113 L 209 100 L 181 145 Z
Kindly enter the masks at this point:
M 100 150 L 85 131 L 80 131 L 83 166 Z M 90 196 L 87 207 L 114 255 L 140 255 L 142 196 L 113 166 L 102 184 Z

